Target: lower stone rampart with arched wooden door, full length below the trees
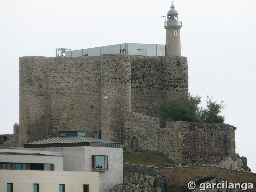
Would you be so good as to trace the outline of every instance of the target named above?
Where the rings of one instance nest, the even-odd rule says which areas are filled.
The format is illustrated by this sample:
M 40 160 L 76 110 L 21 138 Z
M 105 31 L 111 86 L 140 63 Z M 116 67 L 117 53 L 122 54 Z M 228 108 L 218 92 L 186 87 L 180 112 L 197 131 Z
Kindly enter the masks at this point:
M 176 163 L 218 164 L 235 159 L 235 131 L 229 124 L 169 122 L 122 110 L 121 144 L 132 149 L 132 139 L 142 150 L 159 151 Z

